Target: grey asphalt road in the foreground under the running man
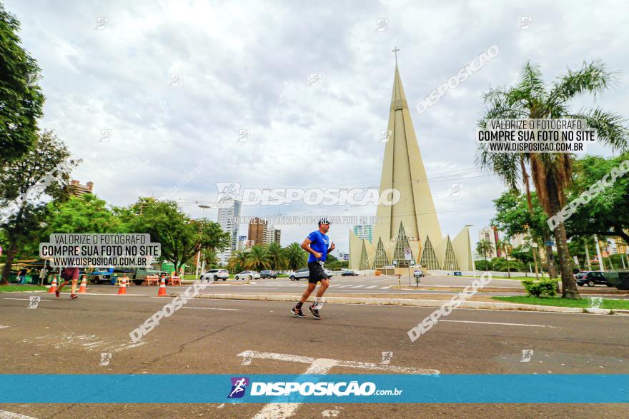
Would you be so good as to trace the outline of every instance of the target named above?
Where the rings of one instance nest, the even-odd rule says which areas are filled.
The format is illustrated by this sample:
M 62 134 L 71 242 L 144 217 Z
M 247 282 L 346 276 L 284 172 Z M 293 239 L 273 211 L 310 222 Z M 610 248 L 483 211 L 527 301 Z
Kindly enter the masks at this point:
M 214 285 L 212 285 L 214 286 Z M 103 286 L 107 287 L 107 286 Z M 233 286 L 241 288 L 244 286 Z M 248 286 L 249 287 L 249 286 Z M 112 287 L 109 287 L 111 290 Z M 458 309 L 447 321 L 410 342 L 407 330 L 432 309 L 327 304 L 324 318 L 293 318 L 287 303 L 190 301 L 162 320 L 144 342 L 133 345 L 129 332 L 170 298 L 105 293 L 41 296 L 27 308 L 24 294 L 0 295 L 0 360 L 3 373 L 304 373 L 307 365 L 253 358 L 246 351 L 428 368 L 440 373 L 629 373 L 629 316 L 479 311 Z M 375 288 L 373 288 L 375 289 Z M 354 293 L 355 291 L 352 291 Z M 387 291 L 390 292 L 390 291 Z M 34 295 L 34 294 L 33 294 Z M 533 350 L 521 362 L 522 350 Z M 101 353 L 112 353 L 99 366 Z M 329 373 L 362 373 L 334 367 Z M 364 373 L 364 372 L 363 372 Z M 89 391 L 92 389 L 69 389 Z M 124 391 L 124 389 L 103 389 Z M 190 391 L 215 389 L 191 388 Z M 525 391 L 526 389 L 522 389 Z M 26 391 L 26 389 L 25 389 Z M 32 389 L 36 392 L 36 389 Z M 68 390 L 61 390 L 68 391 Z M 217 389 L 223 392 L 224 389 Z M 34 418 L 254 418 L 260 404 L 11 404 L 0 410 Z M 268 408 L 267 408 L 268 409 Z M 297 418 L 626 418 L 628 405 L 592 404 L 421 404 L 298 405 Z M 284 417 L 275 415 L 276 418 Z M 0 418 L 4 416 L 0 413 Z

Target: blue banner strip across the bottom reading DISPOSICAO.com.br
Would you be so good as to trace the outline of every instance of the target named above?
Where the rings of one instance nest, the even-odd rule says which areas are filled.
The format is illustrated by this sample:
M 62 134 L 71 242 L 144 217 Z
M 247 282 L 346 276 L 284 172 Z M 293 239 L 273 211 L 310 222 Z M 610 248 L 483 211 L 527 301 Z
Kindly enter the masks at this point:
M 14 374 L 0 388 L 0 403 L 629 402 L 626 374 Z

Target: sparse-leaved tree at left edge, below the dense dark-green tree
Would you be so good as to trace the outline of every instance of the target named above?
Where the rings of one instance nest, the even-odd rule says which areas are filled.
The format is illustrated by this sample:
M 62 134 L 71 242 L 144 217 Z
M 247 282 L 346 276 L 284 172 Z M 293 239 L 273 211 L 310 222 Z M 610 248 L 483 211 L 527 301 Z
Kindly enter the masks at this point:
M 62 200 L 68 196 L 69 169 L 76 161 L 69 160 L 65 144 L 51 131 L 41 133 L 35 147 L 19 159 L 0 166 L 0 229 L 6 236 L 6 263 L 2 282 L 9 281 L 15 256 L 31 241 L 41 238 L 41 224 L 47 207 L 40 204 L 46 195 Z M 66 170 L 61 170 L 65 168 Z M 11 211 L 14 213 L 10 213 Z

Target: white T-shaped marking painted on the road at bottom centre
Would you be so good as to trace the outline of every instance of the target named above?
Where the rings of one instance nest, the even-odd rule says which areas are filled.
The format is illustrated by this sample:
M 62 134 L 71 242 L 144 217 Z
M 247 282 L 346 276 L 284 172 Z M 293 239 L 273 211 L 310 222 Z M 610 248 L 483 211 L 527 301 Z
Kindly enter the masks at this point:
M 440 372 L 438 370 L 427 370 L 424 368 L 412 368 L 412 367 L 395 367 L 386 366 L 383 367 L 379 364 L 362 363 L 352 360 L 336 360 L 329 358 L 310 358 L 308 356 L 290 355 L 287 353 L 269 353 L 269 352 L 256 352 L 254 350 L 245 350 L 239 353 L 237 356 L 260 358 L 260 359 L 272 359 L 272 360 L 284 360 L 288 362 L 298 362 L 310 364 L 304 374 L 327 374 L 332 367 L 340 366 L 347 368 L 362 368 L 367 370 L 384 370 L 395 373 L 406 374 L 430 374 L 437 375 Z M 264 405 L 264 408 L 260 410 L 253 419 L 284 419 L 294 415 L 295 411 L 302 403 L 268 403 Z

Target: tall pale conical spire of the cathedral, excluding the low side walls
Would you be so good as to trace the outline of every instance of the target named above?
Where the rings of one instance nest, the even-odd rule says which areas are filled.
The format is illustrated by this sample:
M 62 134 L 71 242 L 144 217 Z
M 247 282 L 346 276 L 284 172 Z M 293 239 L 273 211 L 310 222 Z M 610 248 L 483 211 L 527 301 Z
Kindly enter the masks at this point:
M 442 235 L 397 65 L 387 138 L 380 193 L 389 188 L 397 189 L 400 201 L 394 205 L 378 206 L 377 216 L 381 221 L 375 226 L 375 237 L 381 237 L 385 242 L 392 240 L 402 223 L 406 236 L 415 238 L 409 244 L 412 258 L 419 261 L 426 237 L 430 236 L 432 243 L 440 243 Z M 390 253 L 387 256 L 391 260 L 392 250 L 387 253 Z

